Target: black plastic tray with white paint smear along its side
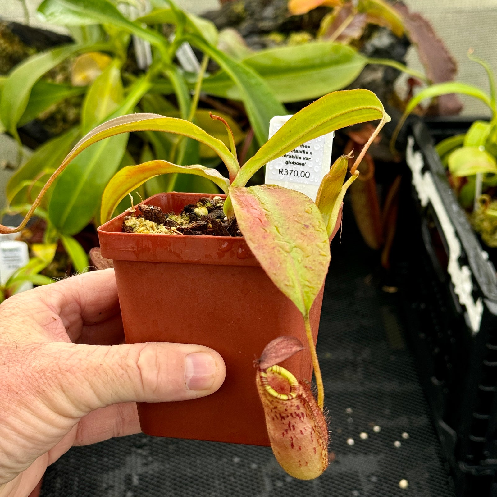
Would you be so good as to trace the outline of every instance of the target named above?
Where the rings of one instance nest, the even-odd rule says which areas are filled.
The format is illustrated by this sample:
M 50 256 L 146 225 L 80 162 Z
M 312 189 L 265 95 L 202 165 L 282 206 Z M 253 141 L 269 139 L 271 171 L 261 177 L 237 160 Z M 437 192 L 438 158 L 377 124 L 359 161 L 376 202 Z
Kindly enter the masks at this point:
M 483 497 L 497 495 L 497 277 L 434 148 L 472 121 L 412 123 L 396 253 L 410 341 L 456 489 Z

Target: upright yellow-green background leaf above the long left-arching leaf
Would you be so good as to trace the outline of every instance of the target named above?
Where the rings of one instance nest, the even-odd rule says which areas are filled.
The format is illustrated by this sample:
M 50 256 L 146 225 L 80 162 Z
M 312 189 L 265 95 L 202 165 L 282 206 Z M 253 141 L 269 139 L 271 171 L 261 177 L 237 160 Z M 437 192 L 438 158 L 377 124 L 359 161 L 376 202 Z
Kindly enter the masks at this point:
M 122 104 L 124 88 L 120 65 L 121 63 L 114 59 L 88 89 L 81 112 L 83 135 L 100 124 Z

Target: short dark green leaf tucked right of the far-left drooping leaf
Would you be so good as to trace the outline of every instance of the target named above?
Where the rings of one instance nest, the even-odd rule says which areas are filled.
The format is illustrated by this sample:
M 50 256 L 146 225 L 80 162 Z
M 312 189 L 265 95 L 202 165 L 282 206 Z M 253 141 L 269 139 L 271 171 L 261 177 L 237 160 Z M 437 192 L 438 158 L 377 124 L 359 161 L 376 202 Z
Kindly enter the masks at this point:
M 86 91 L 84 86 L 57 84 L 40 80 L 33 86 L 26 110 L 19 119 L 18 126 L 36 119 L 40 114 L 71 96 L 81 95 Z

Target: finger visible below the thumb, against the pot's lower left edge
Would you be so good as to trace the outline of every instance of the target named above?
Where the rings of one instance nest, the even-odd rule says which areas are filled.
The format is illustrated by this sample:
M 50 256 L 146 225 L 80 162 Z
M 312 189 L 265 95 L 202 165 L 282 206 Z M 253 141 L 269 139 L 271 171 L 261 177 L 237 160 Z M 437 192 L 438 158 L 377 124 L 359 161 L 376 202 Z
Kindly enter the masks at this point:
M 140 433 L 134 402 L 115 404 L 86 414 L 78 423 L 74 445 L 89 445 L 115 436 Z

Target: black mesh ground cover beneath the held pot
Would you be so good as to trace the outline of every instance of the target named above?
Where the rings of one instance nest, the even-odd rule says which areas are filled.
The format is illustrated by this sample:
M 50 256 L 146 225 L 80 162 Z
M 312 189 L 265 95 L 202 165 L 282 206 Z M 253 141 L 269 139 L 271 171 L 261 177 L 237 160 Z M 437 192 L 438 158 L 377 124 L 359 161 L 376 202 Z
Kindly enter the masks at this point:
M 71 449 L 47 470 L 41 496 L 453 497 L 398 297 L 371 277 L 375 262 L 347 214 L 342 244 L 332 245 L 318 340 L 336 456 L 322 477 L 287 476 L 265 447 L 140 434 Z

